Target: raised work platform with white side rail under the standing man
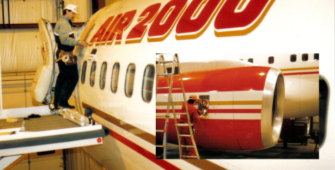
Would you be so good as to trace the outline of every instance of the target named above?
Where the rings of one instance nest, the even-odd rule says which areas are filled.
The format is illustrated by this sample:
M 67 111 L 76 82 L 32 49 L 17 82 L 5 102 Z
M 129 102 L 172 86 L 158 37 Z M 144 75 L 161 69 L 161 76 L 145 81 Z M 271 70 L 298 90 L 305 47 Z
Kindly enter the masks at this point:
M 28 118 L 32 114 L 36 118 Z M 8 117 L 17 120 L 8 123 Z M 47 106 L 1 110 L 0 157 L 101 145 L 109 131 L 90 122 L 73 110 L 50 112 Z

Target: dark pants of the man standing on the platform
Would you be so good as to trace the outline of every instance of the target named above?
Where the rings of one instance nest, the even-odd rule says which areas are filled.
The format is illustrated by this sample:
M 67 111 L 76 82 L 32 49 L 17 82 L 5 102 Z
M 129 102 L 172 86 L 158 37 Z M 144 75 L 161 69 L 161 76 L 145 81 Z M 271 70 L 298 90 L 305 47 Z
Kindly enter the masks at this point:
M 56 53 L 59 56 L 59 53 Z M 78 66 L 75 65 L 65 65 L 63 61 L 59 60 L 59 75 L 56 80 L 55 95 L 54 95 L 54 105 L 58 107 L 59 105 L 66 105 L 71 94 L 75 90 L 75 86 L 78 83 Z

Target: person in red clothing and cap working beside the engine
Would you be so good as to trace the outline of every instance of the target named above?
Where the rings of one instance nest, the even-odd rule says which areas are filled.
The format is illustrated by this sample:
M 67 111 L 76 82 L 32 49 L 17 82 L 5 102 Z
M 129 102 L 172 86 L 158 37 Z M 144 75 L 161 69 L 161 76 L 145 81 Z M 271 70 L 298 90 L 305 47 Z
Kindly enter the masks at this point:
M 200 99 L 197 99 L 197 96 L 190 95 L 188 99 L 188 115 L 190 116 L 190 123 L 194 124 L 197 122 L 200 122 L 200 119 L 204 118 L 204 115 L 201 115 L 200 117 L 197 116 L 198 110 L 194 107 L 194 105 L 197 105 L 198 102 L 201 102 Z M 181 107 L 182 112 L 186 112 L 185 104 L 183 103 L 183 106 Z M 200 112 L 202 113 L 202 112 Z M 188 117 L 187 115 L 181 115 L 181 122 L 182 124 L 188 124 Z M 188 129 L 188 126 L 181 126 L 181 134 L 183 135 L 189 135 L 190 131 Z M 192 140 L 190 137 L 183 137 L 181 136 L 181 145 L 193 145 Z M 182 148 L 181 150 L 182 155 L 185 156 L 196 156 L 194 148 Z M 185 158 L 183 158 L 185 159 Z M 195 158 L 189 158 L 189 159 L 195 159 Z

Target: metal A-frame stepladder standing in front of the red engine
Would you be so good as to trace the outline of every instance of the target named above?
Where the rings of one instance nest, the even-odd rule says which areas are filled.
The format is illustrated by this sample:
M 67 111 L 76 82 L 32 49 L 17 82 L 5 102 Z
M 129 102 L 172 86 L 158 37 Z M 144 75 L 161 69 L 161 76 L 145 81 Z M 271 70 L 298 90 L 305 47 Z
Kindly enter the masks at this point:
M 168 71 L 168 66 L 171 71 Z M 161 68 L 162 67 L 162 68 Z M 190 115 L 188 114 L 188 101 L 186 100 L 185 96 L 185 89 L 183 87 L 183 78 L 182 74 L 180 72 L 175 72 L 175 68 L 178 67 L 178 70 L 181 70 L 180 64 L 179 64 L 179 58 L 177 54 L 173 55 L 173 60 L 166 61 L 163 55 L 159 56 L 158 64 L 157 64 L 157 71 L 156 71 L 156 96 L 157 91 L 165 91 L 167 98 L 164 99 L 164 101 L 159 100 L 157 101 L 157 105 L 166 105 L 166 114 L 164 115 L 162 113 L 156 113 L 157 119 L 164 119 L 164 129 L 157 129 L 156 133 L 163 133 L 163 142 L 162 145 L 156 145 L 157 148 L 163 148 L 163 157 L 166 159 L 166 144 L 167 144 L 167 133 L 169 129 L 169 119 L 173 118 L 174 126 L 176 126 L 176 134 L 178 138 L 178 148 L 179 148 L 179 157 L 180 159 L 200 159 L 200 156 L 197 152 L 197 146 L 195 144 L 195 138 L 193 134 L 193 124 L 191 124 L 190 121 Z M 164 85 L 159 84 L 159 81 L 166 81 L 166 84 Z M 179 81 L 180 86 L 173 86 L 173 81 Z M 173 91 L 182 91 L 182 100 L 173 100 Z M 164 103 L 164 104 L 162 104 Z M 183 103 L 185 107 L 185 112 L 180 113 L 176 112 L 175 105 L 176 103 Z M 188 123 L 183 123 L 178 120 L 178 115 L 186 115 L 188 119 Z M 189 134 L 181 134 L 181 128 L 188 127 Z M 182 145 L 181 138 L 190 138 L 192 141 L 192 145 Z M 194 149 L 195 156 L 194 155 L 182 155 L 182 150 L 187 149 Z

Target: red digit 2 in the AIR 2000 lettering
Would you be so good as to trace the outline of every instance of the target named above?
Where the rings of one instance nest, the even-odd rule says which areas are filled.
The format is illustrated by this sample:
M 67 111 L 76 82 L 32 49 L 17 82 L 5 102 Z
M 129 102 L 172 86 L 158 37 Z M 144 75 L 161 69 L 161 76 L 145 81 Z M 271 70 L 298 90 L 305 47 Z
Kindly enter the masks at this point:
M 161 6 L 160 3 L 154 4 L 152 6 L 149 6 L 143 11 L 138 18 L 142 18 L 142 21 L 138 22 L 135 27 L 133 27 L 132 30 L 130 30 L 127 40 L 139 40 L 135 42 L 142 41 L 142 38 L 147 32 L 147 26 L 152 20 L 154 20 L 155 16 L 157 15 L 157 12 L 159 10 L 159 7 Z M 131 43 L 130 41 L 127 41 L 126 43 Z

